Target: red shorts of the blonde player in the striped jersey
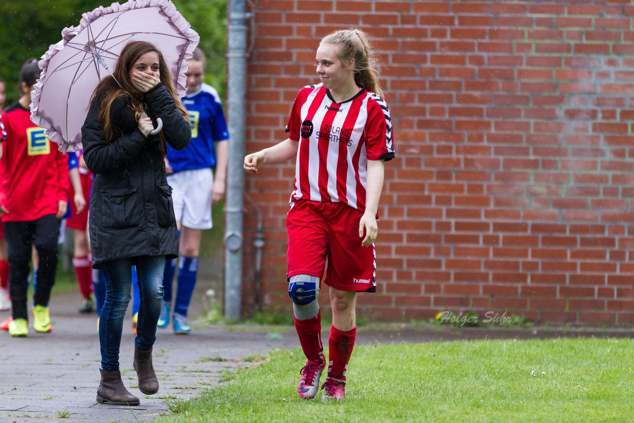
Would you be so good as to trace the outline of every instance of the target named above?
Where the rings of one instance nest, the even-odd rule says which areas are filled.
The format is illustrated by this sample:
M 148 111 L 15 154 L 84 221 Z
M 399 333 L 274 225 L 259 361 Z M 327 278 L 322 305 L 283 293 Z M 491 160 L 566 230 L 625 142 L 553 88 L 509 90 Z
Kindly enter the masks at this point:
M 323 277 L 327 285 L 344 291 L 375 292 L 374 244 L 362 247 L 359 221 L 363 212 L 342 202 L 298 200 L 286 218 L 288 273 Z

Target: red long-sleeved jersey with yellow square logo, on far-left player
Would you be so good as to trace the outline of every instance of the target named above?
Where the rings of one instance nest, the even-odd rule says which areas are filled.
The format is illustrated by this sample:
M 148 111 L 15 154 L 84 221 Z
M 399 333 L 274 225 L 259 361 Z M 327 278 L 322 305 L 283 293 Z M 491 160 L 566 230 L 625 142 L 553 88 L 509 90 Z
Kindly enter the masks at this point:
M 4 222 L 56 214 L 58 201 L 68 200 L 68 159 L 30 115 L 15 103 L 1 116 L 6 140 L 0 159 L 0 200 L 9 211 L 2 217 Z

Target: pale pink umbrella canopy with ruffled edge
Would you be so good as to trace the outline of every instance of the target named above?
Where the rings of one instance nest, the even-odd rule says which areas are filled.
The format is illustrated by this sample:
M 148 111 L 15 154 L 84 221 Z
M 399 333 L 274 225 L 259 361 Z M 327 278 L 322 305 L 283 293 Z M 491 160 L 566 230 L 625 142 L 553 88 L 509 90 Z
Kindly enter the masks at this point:
M 42 73 L 32 92 L 31 120 L 46 129 L 49 140 L 58 143 L 62 152 L 81 150 L 81 127 L 94 88 L 114 70 L 128 42 L 157 46 L 182 97 L 186 61 L 199 40 L 168 0 L 101 6 L 84 13 L 79 26 L 63 29 L 61 36 L 39 61 Z

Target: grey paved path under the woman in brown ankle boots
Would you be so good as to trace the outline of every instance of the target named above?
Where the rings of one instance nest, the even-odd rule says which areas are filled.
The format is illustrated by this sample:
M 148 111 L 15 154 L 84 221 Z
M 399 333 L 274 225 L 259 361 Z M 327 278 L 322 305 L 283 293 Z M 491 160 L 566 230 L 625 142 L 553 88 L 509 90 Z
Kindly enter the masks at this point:
M 197 290 L 190 311 L 203 311 L 205 286 Z M 129 391 L 141 399 L 138 407 L 96 403 L 100 352 L 96 314 L 80 315 L 79 293 L 54 294 L 51 299 L 53 332 L 11 338 L 0 332 L 0 422 L 100 421 L 136 422 L 169 413 L 165 399 L 187 399 L 219 384 L 226 370 L 253 365 L 242 359 L 266 355 L 273 348 L 297 346 L 294 333 L 268 339 L 267 332 L 234 332 L 205 325 L 189 335 L 175 335 L 171 327 L 159 329 L 154 346 L 154 367 L 160 390 L 146 396 L 137 389 L 132 367 L 134 335 L 126 316 L 121 341 L 120 368 Z M 10 315 L 0 312 L 0 320 Z M 291 336 L 293 335 L 293 336 Z M 224 361 L 220 361 L 220 359 Z M 216 359 L 209 361 L 209 359 Z

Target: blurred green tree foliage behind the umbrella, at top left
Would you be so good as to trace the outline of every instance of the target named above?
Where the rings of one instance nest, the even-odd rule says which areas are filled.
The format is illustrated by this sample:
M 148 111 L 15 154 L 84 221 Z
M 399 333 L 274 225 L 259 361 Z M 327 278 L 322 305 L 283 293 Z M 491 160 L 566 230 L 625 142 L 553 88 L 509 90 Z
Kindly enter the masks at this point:
M 64 27 L 79 25 L 82 13 L 110 3 L 108 0 L 103 3 L 97 0 L 0 1 L 0 78 L 6 82 L 8 103 L 18 99 L 20 68 L 27 59 L 40 58 L 51 44 L 60 41 Z M 214 85 L 223 95 L 226 0 L 178 0 L 174 4 L 200 34 L 200 48 L 207 55 L 205 82 Z

